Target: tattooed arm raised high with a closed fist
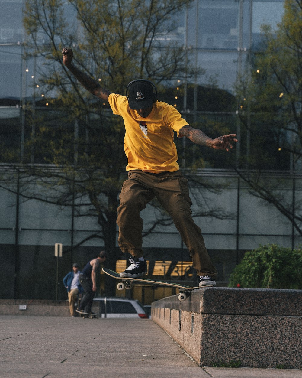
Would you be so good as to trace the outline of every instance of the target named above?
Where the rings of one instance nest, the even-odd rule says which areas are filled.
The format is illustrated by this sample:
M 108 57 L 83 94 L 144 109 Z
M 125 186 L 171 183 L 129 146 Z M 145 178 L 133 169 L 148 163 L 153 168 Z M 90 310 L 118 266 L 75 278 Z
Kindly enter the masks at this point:
M 68 68 L 70 72 L 78 79 L 78 81 L 87 89 L 92 95 L 99 97 L 102 100 L 108 101 L 108 96 L 111 92 L 102 88 L 100 84 L 92 79 L 92 77 L 80 71 L 72 64 L 73 53 L 71 48 L 63 48 L 63 64 Z

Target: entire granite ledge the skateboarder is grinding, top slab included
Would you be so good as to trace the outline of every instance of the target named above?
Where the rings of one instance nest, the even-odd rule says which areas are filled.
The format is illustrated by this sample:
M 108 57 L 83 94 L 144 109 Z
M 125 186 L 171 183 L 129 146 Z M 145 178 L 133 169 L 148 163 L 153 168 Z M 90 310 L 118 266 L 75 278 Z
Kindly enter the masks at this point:
M 302 290 L 198 289 L 153 302 L 151 318 L 200 366 L 302 367 Z

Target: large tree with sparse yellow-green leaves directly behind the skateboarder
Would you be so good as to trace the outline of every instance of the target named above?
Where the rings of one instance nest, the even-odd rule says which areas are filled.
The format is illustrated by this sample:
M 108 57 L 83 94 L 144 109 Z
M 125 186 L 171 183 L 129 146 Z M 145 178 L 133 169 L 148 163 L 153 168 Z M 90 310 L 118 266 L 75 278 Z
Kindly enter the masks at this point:
M 190 51 L 183 48 L 183 34 L 177 30 L 177 18 L 192 3 L 25 1 L 25 59 L 37 61 L 34 85 L 39 89 L 34 87 L 35 97 L 37 100 L 43 94 L 43 103 L 38 107 L 35 101 L 25 107 L 22 172 L 15 167 L 22 181 L 21 195 L 71 207 L 79 218 L 95 217 L 99 231 L 78 245 L 95 237 L 103 239 L 111 259 L 107 264 L 113 269 L 119 258 L 116 209 L 126 166 L 123 120 L 112 115 L 109 105 L 93 97 L 63 65 L 62 49 L 72 48 L 76 67 L 103 88 L 122 95 L 134 79 L 151 79 L 159 88 L 166 83 L 171 87 L 178 80 L 190 81 L 204 72 L 192 68 Z M 215 88 L 199 91 L 211 97 L 203 110 L 214 103 L 217 110 L 218 94 L 222 98 L 219 110 L 226 109 L 233 99 Z M 212 123 L 209 126 L 212 129 Z M 14 158 L 19 161 L 16 154 L 7 155 L 7 159 Z M 196 169 L 203 166 L 202 157 L 194 159 Z M 10 186 L 8 177 L 6 187 Z

